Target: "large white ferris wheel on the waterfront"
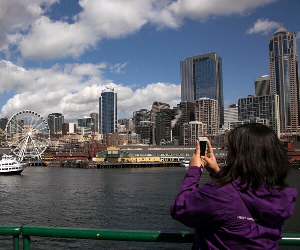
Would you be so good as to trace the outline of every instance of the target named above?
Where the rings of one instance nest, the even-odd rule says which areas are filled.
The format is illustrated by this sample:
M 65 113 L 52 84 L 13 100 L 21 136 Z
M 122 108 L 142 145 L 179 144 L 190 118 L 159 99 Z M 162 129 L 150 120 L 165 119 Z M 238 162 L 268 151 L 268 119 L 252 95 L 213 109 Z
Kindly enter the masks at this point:
M 7 122 L 6 141 L 20 160 L 41 159 L 41 154 L 50 143 L 48 123 L 37 112 L 20 111 Z

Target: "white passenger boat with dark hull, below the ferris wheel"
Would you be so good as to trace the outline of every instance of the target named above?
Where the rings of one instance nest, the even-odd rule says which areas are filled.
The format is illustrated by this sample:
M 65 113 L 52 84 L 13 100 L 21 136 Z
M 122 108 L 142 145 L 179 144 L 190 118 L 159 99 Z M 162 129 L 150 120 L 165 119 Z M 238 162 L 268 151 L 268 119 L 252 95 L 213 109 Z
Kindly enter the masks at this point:
M 4 154 L 0 160 L 0 174 L 20 174 L 28 163 L 20 163 L 13 155 Z

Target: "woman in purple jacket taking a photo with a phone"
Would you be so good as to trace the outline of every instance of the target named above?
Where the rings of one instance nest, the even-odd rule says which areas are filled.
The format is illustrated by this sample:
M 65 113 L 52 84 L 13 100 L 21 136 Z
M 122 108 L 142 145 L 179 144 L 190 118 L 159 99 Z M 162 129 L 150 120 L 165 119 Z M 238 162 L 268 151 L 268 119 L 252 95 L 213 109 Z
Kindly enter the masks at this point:
M 198 188 L 203 167 L 213 178 Z M 171 207 L 174 219 L 195 229 L 193 249 L 274 249 L 295 208 L 297 190 L 285 182 L 286 150 L 270 127 L 258 123 L 229 133 L 221 170 L 210 142 L 199 142 Z

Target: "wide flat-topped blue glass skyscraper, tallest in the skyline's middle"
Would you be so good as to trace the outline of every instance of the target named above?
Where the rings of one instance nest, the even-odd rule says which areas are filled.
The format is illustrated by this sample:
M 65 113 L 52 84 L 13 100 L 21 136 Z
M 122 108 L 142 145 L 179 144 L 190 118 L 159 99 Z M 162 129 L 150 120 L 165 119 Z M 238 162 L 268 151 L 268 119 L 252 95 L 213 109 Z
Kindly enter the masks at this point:
M 187 57 L 180 62 L 181 101 L 206 97 L 218 101 L 219 125 L 224 124 L 223 66 L 216 52 Z

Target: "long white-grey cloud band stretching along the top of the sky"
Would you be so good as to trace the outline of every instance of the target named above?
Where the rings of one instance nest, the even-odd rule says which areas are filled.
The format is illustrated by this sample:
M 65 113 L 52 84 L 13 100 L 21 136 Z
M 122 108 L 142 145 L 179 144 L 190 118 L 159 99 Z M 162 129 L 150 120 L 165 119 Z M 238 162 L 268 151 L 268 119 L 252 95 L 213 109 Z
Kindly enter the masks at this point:
M 0 50 L 24 58 L 80 57 L 99 41 L 138 32 L 146 24 L 178 28 L 184 19 L 245 15 L 276 0 L 79 0 L 82 11 L 74 23 L 51 20 L 41 5 L 58 0 L 4 0 L 0 3 Z M 50 9 L 50 8 L 49 8 Z M 256 28 L 253 28 L 254 32 Z M 13 47 L 13 48 L 12 48 Z M 8 55 L 7 55 L 8 56 Z

